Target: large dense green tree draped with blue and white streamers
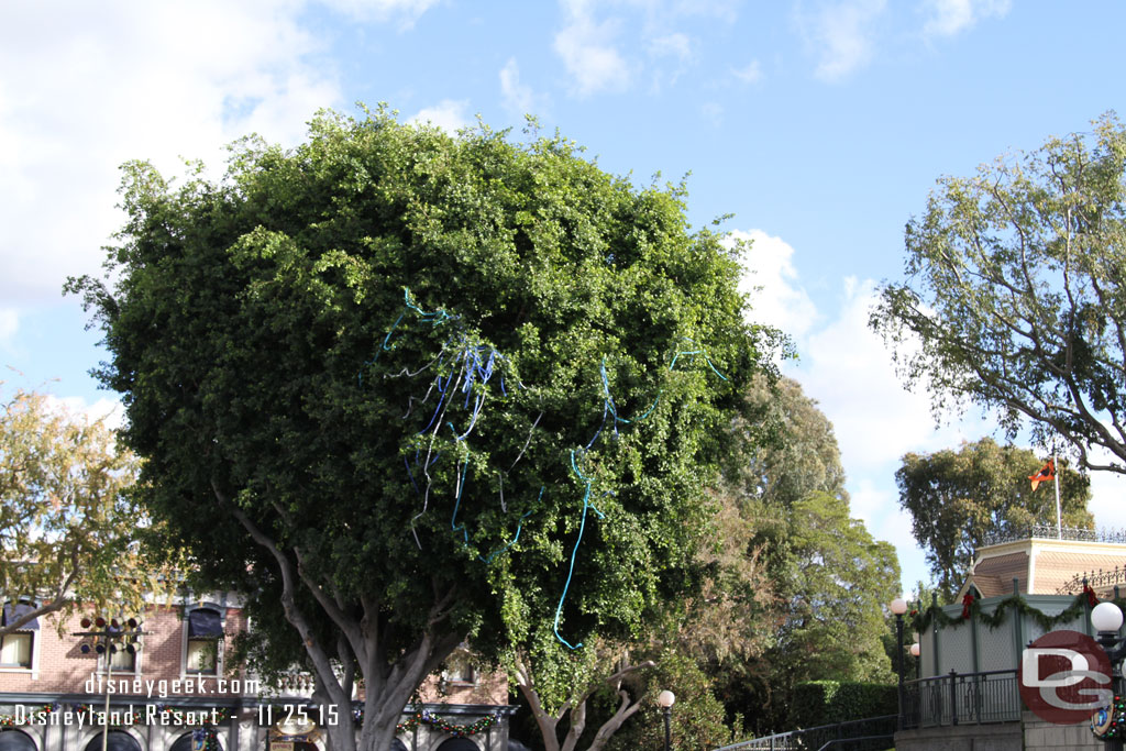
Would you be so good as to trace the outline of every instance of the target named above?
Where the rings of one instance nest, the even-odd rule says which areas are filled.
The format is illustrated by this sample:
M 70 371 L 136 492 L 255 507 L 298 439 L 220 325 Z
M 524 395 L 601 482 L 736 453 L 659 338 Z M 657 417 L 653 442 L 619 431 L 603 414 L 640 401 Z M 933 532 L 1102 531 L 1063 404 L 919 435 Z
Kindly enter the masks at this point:
M 721 238 L 562 138 L 324 114 L 223 181 L 126 167 L 110 281 L 74 280 L 145 504 L 241 589 L 266 662 L 387 748 L 466 636 L 628 634 L 686 583 L 759 367 Z M 262 646 L 266 649 L 261 649 Z M 357 740 L 358 739 L 358 740 Z

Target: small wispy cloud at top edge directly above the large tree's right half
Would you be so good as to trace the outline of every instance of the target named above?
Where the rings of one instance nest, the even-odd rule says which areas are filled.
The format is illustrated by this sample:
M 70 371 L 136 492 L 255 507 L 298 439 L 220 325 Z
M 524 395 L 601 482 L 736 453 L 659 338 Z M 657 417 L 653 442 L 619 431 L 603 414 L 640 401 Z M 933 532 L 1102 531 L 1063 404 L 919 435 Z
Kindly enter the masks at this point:
M 555 52 L 574 79 L 572 90 L 580 97 L 620 92 L 629 87 L 629 65 L 614 45 L 618 24 L 596 24 L 586 0 L 563 0 L 568 25 L 555 35 Z

